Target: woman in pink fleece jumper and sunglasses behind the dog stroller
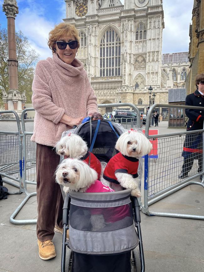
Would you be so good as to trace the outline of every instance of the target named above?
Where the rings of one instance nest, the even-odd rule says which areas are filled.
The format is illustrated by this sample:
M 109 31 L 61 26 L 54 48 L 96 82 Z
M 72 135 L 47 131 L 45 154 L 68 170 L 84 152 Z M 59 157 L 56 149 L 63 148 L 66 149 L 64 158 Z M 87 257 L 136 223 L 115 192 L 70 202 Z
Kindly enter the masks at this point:
M 54 146 L 62 132 L 81 124 L 84 117 L 93 120 L 98 114 L 97 99 L 81 61 L 75 58 L 79 48 L 77 29 L 60 23 L 49 33 L 52 58 L 37 63 L 33 80 L 32 103 L 35 109 L 31 141 L 37 143 L 37 238 L 39 256 L 47 260 L 56 256 L 52 242 L 54 228 L 62 232 L 63 198 L 55 183 L 54 172 L 60 157 Z

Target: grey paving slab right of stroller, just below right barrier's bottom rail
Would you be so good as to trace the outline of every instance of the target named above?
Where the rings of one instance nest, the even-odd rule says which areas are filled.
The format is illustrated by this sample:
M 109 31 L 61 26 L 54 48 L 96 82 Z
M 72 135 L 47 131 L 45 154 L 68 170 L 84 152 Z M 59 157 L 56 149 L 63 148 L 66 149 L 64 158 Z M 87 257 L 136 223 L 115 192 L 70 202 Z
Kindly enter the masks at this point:
M 203 228 L 154 221 L 149 217 L 141 222 L 145 250 L 204 260 Z

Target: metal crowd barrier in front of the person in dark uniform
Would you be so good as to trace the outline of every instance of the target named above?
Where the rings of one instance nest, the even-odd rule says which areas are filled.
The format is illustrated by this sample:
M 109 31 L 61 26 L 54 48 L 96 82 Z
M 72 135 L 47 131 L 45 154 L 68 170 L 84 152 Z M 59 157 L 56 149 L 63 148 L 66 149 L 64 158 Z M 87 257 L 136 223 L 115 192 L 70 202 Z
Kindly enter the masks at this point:
M 204 129 L 197 131 L 165 133 L 160 135 L 149 135 L 150 116 L 154 108 L 181 108 L 181 109 L 203 109 L 203 107 L 185 106 L 185 105 L 169 105 L 169 104 L 154 104 L 150 107 L 147 115 L 147 122 L 145 127 L 145 135 L 148 139 L 153 139 L 158 142 L 158 158 L 151 159 L 150 156 L 145 156 L 145 173 L 144 173 L 144 205 L 142 212 L 149 216 L 169 216 L 189 219 L 204 220 L 204 216 L 168 213 L 168 212 L 155 212 L 149 211 L 149 206 L 166 196 L 184 188 L 190 184 L 197 184 L 204 187 L 204 176 L 201 182 L 192 181 L 201 174 L 204 174 L 204 150 L 202 154 L 202 172 L 197 173 L 197 165 L 194 160 L 191 174 L 188 178 L 178 179 L 178 174 L 181 172 L 183 164 L 183 157 L 181 152 L 185 135 L 194 135 L 196 137 L 202 133 L 202 141 L 204 142 Z

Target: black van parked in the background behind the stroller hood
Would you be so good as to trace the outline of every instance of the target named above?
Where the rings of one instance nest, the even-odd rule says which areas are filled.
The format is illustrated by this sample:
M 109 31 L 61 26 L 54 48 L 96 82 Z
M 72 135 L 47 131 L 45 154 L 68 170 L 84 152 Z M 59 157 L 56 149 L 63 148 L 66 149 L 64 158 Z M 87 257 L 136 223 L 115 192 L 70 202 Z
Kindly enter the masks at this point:
M 112 120 L 115 121 L 115 123 L 126 123 L 126 122 L 137 121 L 137 115 L 132 110 L 115 109 L 112 112 L 112 115 L 113 115 Z

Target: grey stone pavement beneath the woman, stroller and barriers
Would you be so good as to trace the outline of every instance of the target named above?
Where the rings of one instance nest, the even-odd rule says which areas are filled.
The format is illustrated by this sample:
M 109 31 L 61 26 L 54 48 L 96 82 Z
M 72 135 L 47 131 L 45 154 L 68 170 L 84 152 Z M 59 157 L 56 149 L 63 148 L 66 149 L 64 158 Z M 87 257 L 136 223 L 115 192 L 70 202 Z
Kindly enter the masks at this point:
M 154 129 L 151 127 L 150 129 Z M 174 132 L 167 122 L 159 123 L 159 133 Z M 185 131 L 185 129 L 183 129 Z M 200 181 L 199 178 L 195 179 Z M 6 184 L 9 191 L 17 189 Z M 27 185 L 29 193 L 34 185 Z M 9 218 L 25 194 L 8 195 L 0 201 L 0 272 L 60 271 L 62 235 L 56 233 L 53 242 L 56 258 L 44 261 L 38 256 L 36 225 L 13 225 Z M 190 185 L 150 206 L 150 211 L 194 213 L 204 215 L 204 188 Z M 141 214 L 141 230 L 147 272 L 203 272 L 204 221 Z M 37 218 L 36 196 L 31 197 L 15 219 Z M 106 271 L 104 271 L 106 272 Z M 109 271 L 107 271 L 109 272 Z M 125 271 L 124 271 L 125 272 Z

